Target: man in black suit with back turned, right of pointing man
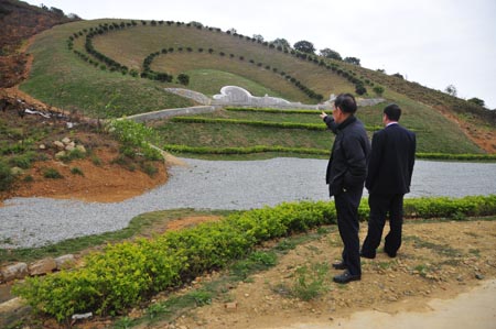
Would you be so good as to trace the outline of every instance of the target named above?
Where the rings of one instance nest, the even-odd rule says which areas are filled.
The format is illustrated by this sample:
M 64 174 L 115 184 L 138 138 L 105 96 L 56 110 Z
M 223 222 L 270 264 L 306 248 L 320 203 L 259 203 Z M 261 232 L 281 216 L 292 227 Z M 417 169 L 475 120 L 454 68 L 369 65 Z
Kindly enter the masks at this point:
M 403 196 L 410 191 L 416 161 L 416 134 L 398 124 L 401 109 L 389 105 L 384 109 L 385 129 L 373 136 L 370 161 L 365 187 L 368 189 L 370 215 L 368 232 L 360 255 L 376 256 L 382 239 L 386 216 L 389 213 L 389 233 L 384 251 L 395 257 L 401 245 L 403 223 Z

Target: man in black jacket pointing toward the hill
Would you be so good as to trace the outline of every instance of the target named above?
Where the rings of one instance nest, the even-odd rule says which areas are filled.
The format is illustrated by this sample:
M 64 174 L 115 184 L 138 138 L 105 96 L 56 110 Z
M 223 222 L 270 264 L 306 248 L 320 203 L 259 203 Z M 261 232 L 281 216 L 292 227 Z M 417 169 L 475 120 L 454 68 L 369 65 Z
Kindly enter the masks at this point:
M 358 239 L 358 206 L 367 176 L 367 160 L 370 143 L 364 124 L 354 116 L 357 110 L 355 98 L 349 94 L 337 96 L 333 116 L 322 112 L 321 118 L 336 134 L 325 180 L 330 196 L 334 196 L 337 227 L 343 240 L 342 261 L 334 263 L 336 270 L 345 270 L 334 276 L 334 282 L 348 283 L 360 279 L 360 242 Z

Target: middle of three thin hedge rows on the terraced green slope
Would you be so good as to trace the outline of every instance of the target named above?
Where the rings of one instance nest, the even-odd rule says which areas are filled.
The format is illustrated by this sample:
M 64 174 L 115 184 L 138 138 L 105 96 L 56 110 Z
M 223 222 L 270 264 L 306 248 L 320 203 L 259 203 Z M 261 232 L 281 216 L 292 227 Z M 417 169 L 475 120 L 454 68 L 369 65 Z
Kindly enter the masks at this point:
M 229 124 L 247 124 L 255 127 L 269 127 L 280 129 L 306 129 L 325 131 L 327 127 L 324 123 L 298 123 L 298 122 L 272 122 L 272 121 L 256 121 L 256 120 L 239 120 L 239 119 L 211 119 L 201 117 L 174 117 L 171 119 L 173 122 L 188 122 L 188 123 L 229 123 Z M 375 131 L 380 127 L 366 125 L 366 130 Z

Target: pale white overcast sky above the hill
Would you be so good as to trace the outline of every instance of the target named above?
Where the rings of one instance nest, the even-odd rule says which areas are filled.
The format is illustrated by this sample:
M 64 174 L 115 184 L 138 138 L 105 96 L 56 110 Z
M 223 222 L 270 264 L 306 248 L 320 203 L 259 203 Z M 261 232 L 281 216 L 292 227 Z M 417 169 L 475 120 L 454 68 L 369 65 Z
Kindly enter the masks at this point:
M 291 45 L 310 41 L 362 66 L 496 108 L 495 0 L 30 0 L 85 20 L 191 22 Z

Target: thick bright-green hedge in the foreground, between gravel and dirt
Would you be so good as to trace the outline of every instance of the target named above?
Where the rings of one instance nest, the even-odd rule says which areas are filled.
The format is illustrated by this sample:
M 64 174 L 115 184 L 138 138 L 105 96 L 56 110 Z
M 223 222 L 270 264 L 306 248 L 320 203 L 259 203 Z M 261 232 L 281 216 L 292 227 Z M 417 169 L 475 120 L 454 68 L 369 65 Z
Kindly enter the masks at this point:
M 405 217 L 460 219 L 487 215 L 496 215 L 496 195 L 405 200 Z M 367 216 L 364 199 L 360 220 Z M 13 292 L 36 311 L 58 321 L 87 311 L 117 315 L 158 292 L 245 256 L 262 241 L 335 222 L 334 204 L 324 201 L 285 202 L 236 212 L 222 221 L 166 232 L 155 240 L 109 244 L 104 252 L 87 255 L 85 267 L 30 277 L 17 284 Z

